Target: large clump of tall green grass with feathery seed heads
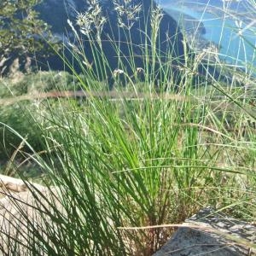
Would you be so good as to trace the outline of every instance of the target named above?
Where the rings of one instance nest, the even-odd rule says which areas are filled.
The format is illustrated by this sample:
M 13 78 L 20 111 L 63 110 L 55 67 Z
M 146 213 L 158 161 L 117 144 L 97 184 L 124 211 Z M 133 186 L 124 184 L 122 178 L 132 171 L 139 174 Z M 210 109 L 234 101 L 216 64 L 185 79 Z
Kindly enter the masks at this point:
M 122 56 L 119 42 L 110 35 L 108 40 L 119 58 L 119 67 L 111 71 L 108 59 L 99 51 L 105 22 L 102 10 L 96 1 L 90 3 L 91 12 L 79 15 L 78 23 L 89 38 L 96 66 L 90 68 L 83 39 L 70 23 L 79 42 L 79 46 L 72 45 L 73 56 L 84 73 L 83 79 L 75 70 L 73 75 L 90 93 L 109 90 L 108 74 L 112 72 L 118 96 L 91 96 L 82 106 L 68 104 L 68 99 L 65 104 L 55 102 L 57 108 L 44 102 L 44 108 L 48 106 L 41 117 L 45 122 L 37 125 L 45 155 L 25 143 L 32 152 L 27 157 L 44 171 L 42 183 L 48 189 L 37 189 L 27 181 L 31 201 L 22 203 L 9 196 L 18 214 L 9 208 L 4 213 L 9 230 L 3 229 L 3 252 L 151 255 L 173 230 L 120 227 L 181 223 L 209 204 L 254 221 L 255 108 L 249 93 L 245 96 L 245 87 L 235 86 L 232 75 L 238 73 L 237 68 L 212 62 L 212 57 L 202 59 L 200 54 L 192 60 L 189 49 L 182 66 L 173 60 L 172 52 L 163 57 L 157 43 L 162 16 L 160 9 L 154 9 L 151 19 L 145 17 L 153 32 L 140 45 L 144 79 L 137 75 L 133 46 L 128 44 L 129 58 Z M 122 7 L 118 1 L 114 3 L 117 10 Z M 127 11 L 129 3 L 125 2 Z M 82 22 L 86 17 L 90 24 Z M 127 42 L 133 19 L 136 16 L 123 21 L 124 26 L 119 24 Z M 88 25 L 96 27 L 96 38 L 85 30 Z M 178 67 L 178 79 L 166 60 Z M 223 76 L 231 75 L 228 86 L 221 75 L 212 75 L 212 67 Z M 203 75 L 201 68 L 205 69 Z M 160 88 L 155 86 L 156 73 L 160 74 Z M 255 87 L 250 73 L 239 73 L 242 83 L 248 81 Z M 125 87 L 119 86 L 119 75 Z M 107 83 L 103 88 L 102 80 Z M 124 90 L 137 97 L 124 97 Z M 173 98 L 175 90 L 177 97 Z M 13 128 L 5 127 L 20 137 Z

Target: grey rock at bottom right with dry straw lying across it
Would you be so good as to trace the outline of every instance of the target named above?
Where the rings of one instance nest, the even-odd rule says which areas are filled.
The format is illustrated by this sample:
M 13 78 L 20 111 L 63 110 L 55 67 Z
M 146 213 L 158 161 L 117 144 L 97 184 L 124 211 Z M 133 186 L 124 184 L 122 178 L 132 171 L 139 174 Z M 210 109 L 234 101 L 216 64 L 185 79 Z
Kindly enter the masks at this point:
M 256 255 L 256 226 L 202 209 L 184 222 L 154 256 L 246 256 Z M 189 227 L 190 226 L 190 227 Z

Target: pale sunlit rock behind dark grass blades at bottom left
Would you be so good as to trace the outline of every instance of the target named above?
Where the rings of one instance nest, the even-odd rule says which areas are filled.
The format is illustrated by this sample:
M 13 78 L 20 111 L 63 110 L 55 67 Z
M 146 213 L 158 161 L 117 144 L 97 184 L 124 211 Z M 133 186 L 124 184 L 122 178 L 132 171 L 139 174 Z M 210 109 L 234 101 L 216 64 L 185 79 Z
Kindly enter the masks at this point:
M 0 255 L 32 255 L 29 252 L 33 252 L 33 255 L 49 255 L 43 249 L 33 248 L 31 239 L 38 239 L 33 234 L 34 230 L 44 239 L 47 237 L 45 230 L 49 234 L 57 230 L 50 213 L 65 214 L 59 200 L 60 191 L 33 184 L 30 188 L 23 188 L 23 192 L 14 193 L 6 189 L 5 193 L 6 196 L 0 199 Z M 40 203 L 35 195 L 40 198 Z M 49 244 L 52 245 L 50 241 Z

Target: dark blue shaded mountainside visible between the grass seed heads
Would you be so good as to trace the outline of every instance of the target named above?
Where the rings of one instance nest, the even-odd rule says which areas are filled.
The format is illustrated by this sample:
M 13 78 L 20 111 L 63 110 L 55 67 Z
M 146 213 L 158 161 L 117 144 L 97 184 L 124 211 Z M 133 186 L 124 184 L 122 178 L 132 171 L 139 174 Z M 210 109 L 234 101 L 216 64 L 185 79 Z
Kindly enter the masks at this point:
M 127 38 L 122 30 L 119 30 L 118 26 L 118 15 L 114 10 L 113 1 L 100 0 L 99 3 L 102 6 L 103 15 L 108 17 L 108 21 L 105 23 L 102 29 L 102 51 L 109 61 L 109 71 L 113 71 L 118 67 L 118 61 L 116 58 L 116 50 L 113 45 L 109 42 L 108 37 L 110 36 L 113 40 L 120 42 L 119 49 L 122 51 L 122 55 L 129 56 L 131 53 L 129 50 L 132 45 L 132 52 L 137 55 L 135 63 L 137 67 L 143 67 L 143 49 L 141 45 L 145 45 L 145 42 L 149 45 L 150 53 L 150 35 L 151 26 L 146 21 L 150 17 L 150 11 L 152 7 L 155 7 L 155 3 L 151 3 L 150 0 L 133 0 L 132 5 L 142 4 L 142 11 L 138 15 L 138 19 L 134 20 L 134 25 L 131 27 L 131 38 L 129 39 L 129 45 L 127 44 Z M 73 40 L 73 32 L 70 26 L 67 24 L 67 19 L 76 24 L 76 16 L 78 13 L 88 9 L 88 1 L 81 0 L 45 0 L 44 3 L 38 6 L 40 18 L 45 20 L 50 26 L 52 32 L 57 38 L 60 38 L 67 43 L 67 38 Z M 147 31 L 149 37 L 145 36 L 144 32 Z M 183 36 L 179 32 L 177 22 L 172 19 L 170 15 L 164 12 L 164 16 L 160 22 L 159 37 L 157 48 L 160 49 L 163 59 L 167 52 L 172 52 L 174 56 L 183 55 Z M 85 54 L 90 62 L 95 62 L 92 57 L 92 51 L 90 44 L 84 40 Z M 182 61 L 182 58 L 180 58 Z M 48 59 L 49 65 L 53 69 L 62 69 L 63 64 L 57 60 L 56 57 Z M 129 66 L 127 63 L 127 67 Z M 44 68 L 44 67 L 43 67 Z M 128 70 L 129 72 L 129 70 Z

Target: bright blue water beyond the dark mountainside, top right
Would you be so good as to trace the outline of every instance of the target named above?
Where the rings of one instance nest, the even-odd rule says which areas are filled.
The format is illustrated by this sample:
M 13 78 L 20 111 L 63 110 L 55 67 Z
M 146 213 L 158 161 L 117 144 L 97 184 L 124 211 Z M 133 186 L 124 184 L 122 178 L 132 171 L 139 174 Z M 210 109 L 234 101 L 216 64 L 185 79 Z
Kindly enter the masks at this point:
M 250 0 L 160 0 L 159 3 L 170 15 L 178 12 L 201 21 L 205 27 L 201 37 L 219 46 L 221 60 L 256 73 L 256 7 Z

